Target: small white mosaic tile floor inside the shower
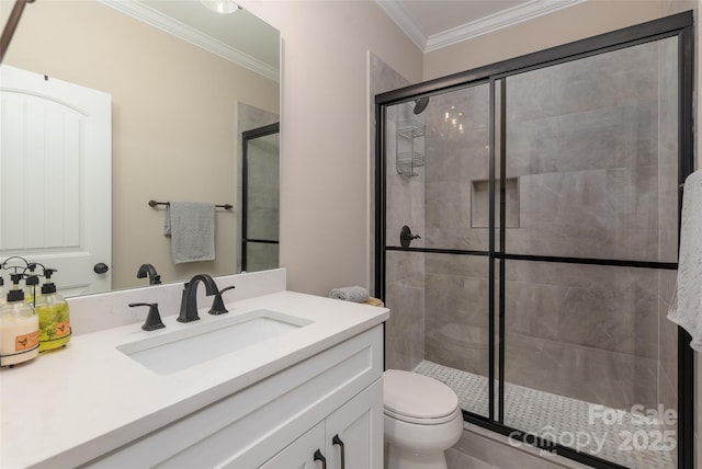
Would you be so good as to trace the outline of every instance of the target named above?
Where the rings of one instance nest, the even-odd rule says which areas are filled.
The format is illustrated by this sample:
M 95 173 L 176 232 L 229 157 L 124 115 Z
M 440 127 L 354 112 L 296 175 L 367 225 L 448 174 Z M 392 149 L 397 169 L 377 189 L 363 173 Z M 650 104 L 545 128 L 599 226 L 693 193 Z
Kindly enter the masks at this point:
M 486 377 L 429 361 L 422 361 L 415 371 L 453 389 L 462 409 L 487 416 Z M 630 412 L 591 402 L 506 382 L 505 424 L 532 436 L 557 439 L 564 446 L 576 447 L 627 468 L 676 467 L 675 449 L 661 449 L 666 443 L 671 443 L 666 441 L 668 435 L 664 433 L 663 425 L 656 421 L 643 422 Z

